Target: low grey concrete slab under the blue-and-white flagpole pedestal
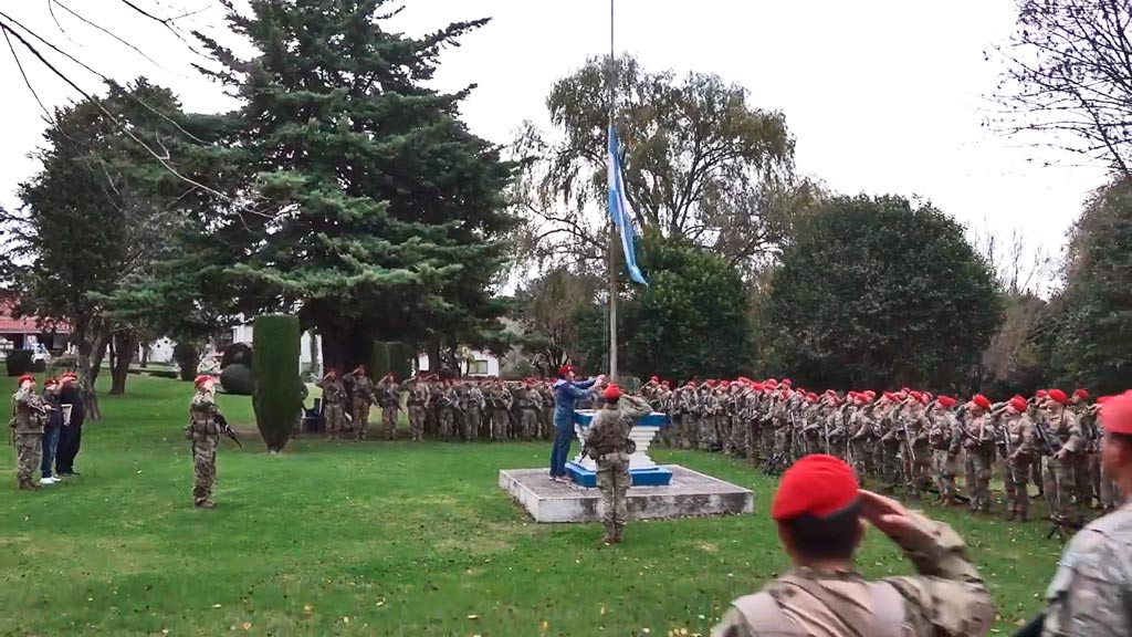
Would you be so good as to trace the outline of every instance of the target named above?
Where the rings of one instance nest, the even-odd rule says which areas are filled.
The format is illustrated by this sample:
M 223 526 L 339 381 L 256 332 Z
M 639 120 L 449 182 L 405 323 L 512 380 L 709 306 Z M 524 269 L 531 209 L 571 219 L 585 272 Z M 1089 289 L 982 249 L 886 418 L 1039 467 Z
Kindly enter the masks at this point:
M 628 493 L 629 519 L 684 518 L 749 513 L 755 494 L 748 489 L 679 465 L 666 486 L 633 486 Z M 517 501 L 537 523 L 595 523 L 601 520 L 597 489 L 551 482 L 546 469 L 503 469 L 499 487 Z

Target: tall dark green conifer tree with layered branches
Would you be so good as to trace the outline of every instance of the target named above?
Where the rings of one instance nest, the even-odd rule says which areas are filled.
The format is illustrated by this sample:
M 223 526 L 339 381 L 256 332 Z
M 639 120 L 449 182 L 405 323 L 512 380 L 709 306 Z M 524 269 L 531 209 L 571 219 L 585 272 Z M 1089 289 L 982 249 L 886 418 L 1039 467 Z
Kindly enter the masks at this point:
M 243 99 L 226 141 L 243 202 L 226 215 L 243 254 L 230 273 L 241 309 L 298 309 L 323 337 L 327 368 L 353 366 L 375 339 L 464 334 L 501 312 L 488 288 L 513 226 L 512 167 L 472 135 L 471 86 L 423 86 L 440 51 L 483 20 L 412 39 L 384 24 L 386 0 L 225 1 L 259 52 L 238 58 L 201 37 Z

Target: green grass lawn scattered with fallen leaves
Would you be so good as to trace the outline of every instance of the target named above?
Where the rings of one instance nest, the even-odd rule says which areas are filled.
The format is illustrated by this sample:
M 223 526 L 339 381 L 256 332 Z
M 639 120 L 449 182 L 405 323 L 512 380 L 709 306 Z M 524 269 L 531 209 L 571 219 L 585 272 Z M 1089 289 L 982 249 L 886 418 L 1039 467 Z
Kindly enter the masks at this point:
M 598 547 L 598 525 L 530 524 L 498 489 L 500 468 L 541 466 L 548 444 L 310 439 L 280 456 L 222 440 L 218 507 L 196 510 L 191 385 L 128 390 L 86 425 L 80 477 L 17 492 L 14 451 L 0 460 L 0 635 L 706 635 L 787 567 L 771 478 L 664 449 L 754 489 L 756 513 L 631 524 L 626 544 Z M 248 399 L 220 400 L 252 426 Z M 970 545 L 1000 629 L 1040 608 L 1061 552 L 1046 525 L 931 512 Z M 909 572 L 876 535 L 864 571 Z

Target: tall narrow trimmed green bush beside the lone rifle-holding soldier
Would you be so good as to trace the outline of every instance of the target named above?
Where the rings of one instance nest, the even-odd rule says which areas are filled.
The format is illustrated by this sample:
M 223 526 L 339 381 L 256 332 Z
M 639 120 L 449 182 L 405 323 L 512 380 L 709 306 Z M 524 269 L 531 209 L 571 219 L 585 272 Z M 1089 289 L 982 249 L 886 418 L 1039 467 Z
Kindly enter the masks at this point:
M 256 317 L 256 391 L 251 405 L 267 449 L 280 451 L 291 439 L 302 407 L 299 380 L 299 318 L 280 314 Z

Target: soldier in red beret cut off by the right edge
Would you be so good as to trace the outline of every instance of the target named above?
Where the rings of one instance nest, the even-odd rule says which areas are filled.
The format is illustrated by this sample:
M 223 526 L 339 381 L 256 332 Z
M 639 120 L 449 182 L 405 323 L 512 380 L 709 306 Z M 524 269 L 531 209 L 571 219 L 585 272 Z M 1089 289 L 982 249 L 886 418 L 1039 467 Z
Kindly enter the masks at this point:
M 1099 399 L 1098 399 L 1099 401 Z M 1132 493 L 1132 391 L 1099 410 L 1105 477 Z M 1132 503 L 1096 519 L 1073 536 L 1046 591 L 1043 637 L 1132 635 Z

